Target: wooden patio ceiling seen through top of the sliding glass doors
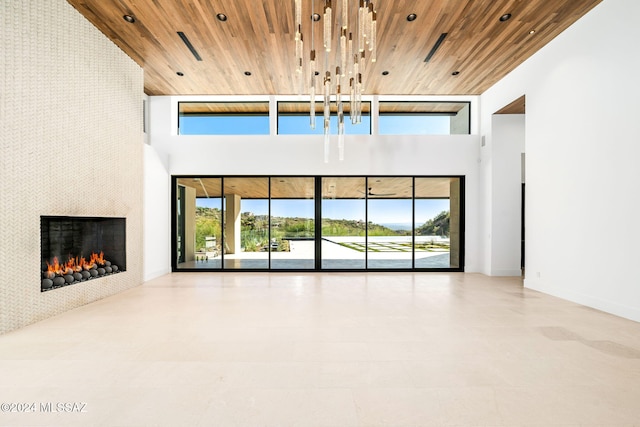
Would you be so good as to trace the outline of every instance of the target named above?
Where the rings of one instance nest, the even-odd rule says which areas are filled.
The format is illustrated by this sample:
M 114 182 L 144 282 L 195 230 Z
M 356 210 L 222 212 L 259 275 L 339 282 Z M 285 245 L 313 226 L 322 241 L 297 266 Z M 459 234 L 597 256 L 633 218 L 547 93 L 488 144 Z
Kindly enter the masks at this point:
M 448 198 L 451 180 L 455 178 L 416 178 L 417 198 Z M 179 178 L 178 185 L 192 187 L 196 197 L 215 198 L 222 193 L 220 178 Z M 314 178 L 271 178 L 272 199 L 314 198 Z M 266 199 L 269 195 L 268 177 L 229 177 L 224 179 L 224 194 L 237 194 L 243 199 Z M 322 197 L 325 199 L 403 199 L 413 196 L 412 180 L 408 177 L 333 177 L 323 178 Z

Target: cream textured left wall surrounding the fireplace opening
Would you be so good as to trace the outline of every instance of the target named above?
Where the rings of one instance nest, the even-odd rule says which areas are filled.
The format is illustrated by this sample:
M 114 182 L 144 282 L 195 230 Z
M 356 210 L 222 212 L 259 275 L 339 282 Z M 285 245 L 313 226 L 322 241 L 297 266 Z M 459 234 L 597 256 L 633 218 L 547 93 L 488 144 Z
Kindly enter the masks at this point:
M 64 0 L 0 2 L 0 333 L 142 282 L 142 69 Z M 40 216 L 126 217 L 127 271 L 40 291 Z

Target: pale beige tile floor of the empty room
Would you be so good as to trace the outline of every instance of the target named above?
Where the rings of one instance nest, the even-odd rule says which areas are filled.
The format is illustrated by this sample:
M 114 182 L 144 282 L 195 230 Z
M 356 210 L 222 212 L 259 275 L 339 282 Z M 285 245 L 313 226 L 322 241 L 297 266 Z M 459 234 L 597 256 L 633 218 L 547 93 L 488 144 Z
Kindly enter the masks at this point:
M 0 336 L 0 402 L 35 403 L 2 426 L 640 426 L 640 324 L 519 278 L 178 273 Z

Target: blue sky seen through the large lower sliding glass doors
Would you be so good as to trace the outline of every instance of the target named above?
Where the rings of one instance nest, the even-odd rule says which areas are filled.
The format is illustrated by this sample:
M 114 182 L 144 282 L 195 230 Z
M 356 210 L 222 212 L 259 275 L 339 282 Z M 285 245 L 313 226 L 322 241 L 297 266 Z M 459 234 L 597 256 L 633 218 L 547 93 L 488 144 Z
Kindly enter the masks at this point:
M 256 215 L 268 214 L 267 200 L 243 199 L 242 212 Z M 220 207 L 220 199 L 197 199 L 197 206 Z M 326 199 L 322 202 L 322 217 L 331 219 L 364 220 L 365 201 L 352 199 Z M 416 222 L 423 224 L 442 211 L 449 210 L 448 199 L 416 200 Z M 272 200 L 271 214 L 279 217 L 313 217 L 313 200 Z M 369 200 L 369 220 L 378 224 L 410 223 L 411 200 L 407 199 L 371 199 Z

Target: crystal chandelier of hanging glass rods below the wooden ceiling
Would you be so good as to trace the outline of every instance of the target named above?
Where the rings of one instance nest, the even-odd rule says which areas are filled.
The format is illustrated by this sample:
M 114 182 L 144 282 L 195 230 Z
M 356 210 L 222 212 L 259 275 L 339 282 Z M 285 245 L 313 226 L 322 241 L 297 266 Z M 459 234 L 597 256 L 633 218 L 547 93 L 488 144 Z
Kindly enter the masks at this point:
M 306 0 L 309 1 L 309 0 Z M 344 159 L 344 102 L 349 102 L 352 124 L 362 121 L 362 92 L 368 62 L 376 61 L 376 11 L 370 0 L 324 0 L 322 18 L 314 13 L 303 27 L 302 0 L 295 0 L 295 55 L 298 93 L 310 98 L 310 126 L 316 126 L 316 91 L 323 96 L 324 161 L 329 161 L 331 104 L 335 102 L 338 119 L 338 157 Z M 322 19 L 324 61 L 319 61 L 315 46 L 315 27 Z M 306 24 L 306 22 L 305 22 Z M 305 39 L 311 48 L 305 51 Z M 308 57 L 305 58 L 305 53 Z

